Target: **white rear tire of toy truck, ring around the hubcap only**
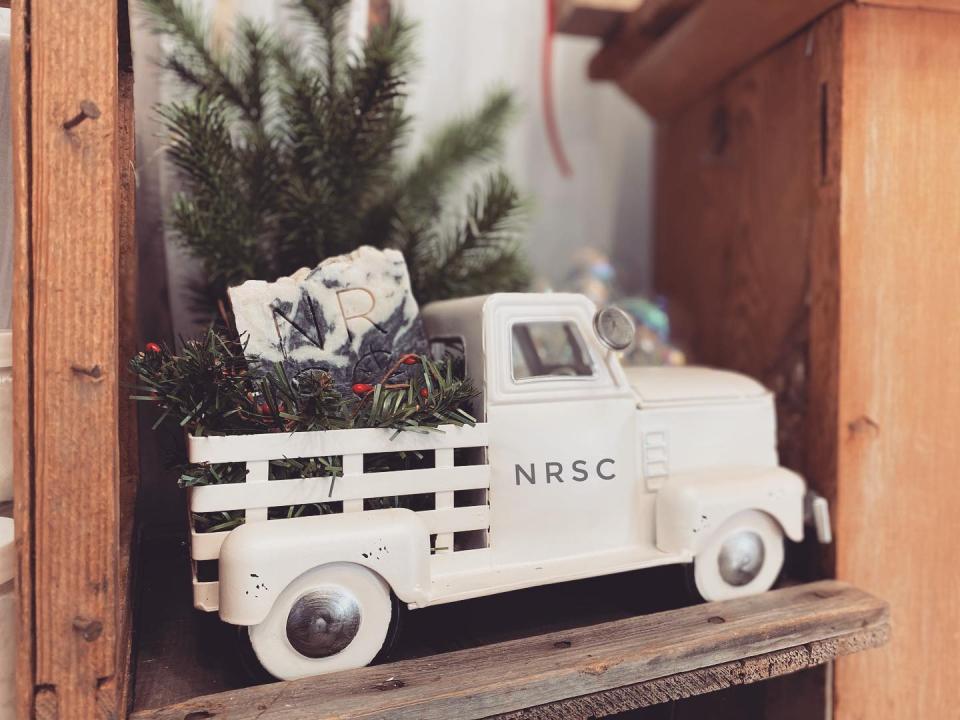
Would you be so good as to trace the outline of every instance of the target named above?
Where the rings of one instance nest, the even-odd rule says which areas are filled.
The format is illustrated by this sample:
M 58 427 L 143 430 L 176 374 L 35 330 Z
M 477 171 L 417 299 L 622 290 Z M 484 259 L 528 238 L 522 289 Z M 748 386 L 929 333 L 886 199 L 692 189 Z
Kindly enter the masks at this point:
M 287 640 L 287 616 L 303 593 L 324 585 L 350 590 L 360 604 L 360 628 L 336 655 L 308 658 Z M 331 563 L 309 570 L 284 588 L 264 621 L 247 628 L 247 636 L 257 664 L 267 674 L 294 680 L 352 670 L 382 659 L 399 633 L 400 616 L 400 603 L 383 578 L 362 565 Z

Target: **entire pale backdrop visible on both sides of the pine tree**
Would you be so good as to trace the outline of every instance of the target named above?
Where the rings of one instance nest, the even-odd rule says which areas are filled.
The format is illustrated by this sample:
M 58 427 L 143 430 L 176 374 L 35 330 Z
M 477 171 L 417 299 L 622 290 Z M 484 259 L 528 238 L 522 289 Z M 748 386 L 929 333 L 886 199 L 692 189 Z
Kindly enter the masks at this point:
M 202 0 L 225 32 L 237 13 L 285 22 L 284 0 Z M 366 0 L 355 0 L 355 27 L 365 19 Z M 528 250 L 534 270 L 557 285 L 577 248 L 613 252 L 633 289 L 649 288 L 652 125 L 611 85 L 591 83 L 586 64 L 596 41 L 558 37 L 554 47 L 554 96 L 560 133 L 573 166 L 561 176 L 547 145 L 540 97 L 540 54 L 545 0 L 394 0 L 419 30 L 421 62 L 411 88 L 409 110 L 416 118 L 411 152 L 444 119 L 477 106 L 493 87 L 511 88 L 521 115 L 509 133 L 506 166 L 532 198 Z M 151 254 L 166 260 L 175 333 L 195 328 L 187 308 L 186 283 L 192 261 L 164 239 L 160 216 L 175 180 L 159 153 L 159 128 L 150 111 L 169 95 L 153 60 L 156 38 L 135 22 L 134 50 L 138 130 L 138 236 L 146 267 Z M 152 247 L 145 247 L 152 246 Z M 159 281 L 156 278 L 147 282 Z M 157 290 L 162 290 L 158 284 Z M 148 298 L 149 299 L 149 298 Z M 149 325 L 149 319 L 145 318 Z M 148 330 L 149 332 L 149 330 Z

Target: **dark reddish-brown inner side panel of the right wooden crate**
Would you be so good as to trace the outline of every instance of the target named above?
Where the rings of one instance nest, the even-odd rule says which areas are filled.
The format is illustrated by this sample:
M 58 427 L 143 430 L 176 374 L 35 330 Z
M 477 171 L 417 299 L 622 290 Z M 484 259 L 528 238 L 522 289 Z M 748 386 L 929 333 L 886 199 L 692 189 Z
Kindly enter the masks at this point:
M 836 22 L 819 23 L 661 124 L 654 249 L 677 337 L 694 361 L 776 392 L 781 461 L 828 497 L 833 476 L 809 461 L 806 440 L 835 430 L 810 389 L 829 386 L 836 367 L 836 285 L 814 287 L 813 271 L 829 266 L 820 256 L 838 224 L 838 39 Z M 819 238 L 834 245 L 821 251 Z

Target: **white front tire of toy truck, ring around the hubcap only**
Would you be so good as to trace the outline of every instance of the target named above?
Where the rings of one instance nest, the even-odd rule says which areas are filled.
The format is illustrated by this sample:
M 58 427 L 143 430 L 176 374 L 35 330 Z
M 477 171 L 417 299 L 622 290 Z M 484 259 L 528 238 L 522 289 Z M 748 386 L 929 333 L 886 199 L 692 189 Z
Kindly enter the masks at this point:
M 750 531 L 763 542 L 763 565 L 745 585 L 730 585 L 720 574 L 718 557 L 724 541 L 735 533 Z M 748 510 L 727 520 L 697 552 L 693 560 L 693 583 L 704 600 L 732 600 L 766 592 L 783 570 L 783 528 L 764 512 Z

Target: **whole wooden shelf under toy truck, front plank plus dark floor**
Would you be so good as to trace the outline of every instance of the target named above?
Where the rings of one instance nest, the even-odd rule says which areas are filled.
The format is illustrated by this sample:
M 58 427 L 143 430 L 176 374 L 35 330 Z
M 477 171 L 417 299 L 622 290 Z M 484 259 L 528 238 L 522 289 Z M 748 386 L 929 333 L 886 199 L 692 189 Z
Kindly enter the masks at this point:
M 148 544 L 145 562 L 159 560 L 164 546 L 160 542 L 151 552 Z M 166 569 L 170 569 L 169 561 Z M 667 576 L 648 572 L 599 578 L 563 589 L 524 591 L 519 599 L 512 593 L 511 597 L 469 601 L 472 605 L 455 603 L 419 610 L 409 615 L 411 623 L 418 617 L 426 622 L 419 631 L 408 627 L 404 633 L 407 640 L 401 643 L 405 645 L 401 656 L 412 655 L 409 659 L 248 688 L 236 686 L 235 669 L 217 675 L 223 668 L 214 655 L 229 657 L 230 651 L 223 644 L 229 628 L 219 625 L 215 617 L 190 611 L 189 617 L 181 613 L 180 620 L 155 618 L 143 629 L 146 636 L 138 661 L 137 711 L 132 717 L 601 717 L 810 668 L 839 655 L 882 645 L 889 632 L 884 602 L 836 581 L 796 585 L 744 600 L 630 616 L 629 589 L 634 595 L 640 594 L 636 592 L 642 587 L 638 578 L 663 582 Z M 175 572 L 166 576 L 164 586 L 185 587 L 181 580 Z M 145 613 L 155 612 L 158 606 L 171 607 L 162 588 L 145 585 Z M 620 601 L 611 604 L 603 600 L 611 597 Z M 182 601 L 177 600 L 179 607 L 188 607 Z M 586 612 L 587 617 L 591 613 L 595 617 L 599 606 L 600 610 L 606 607 L 608 617 L 617 619 L 572 625 L 577 606 L 581 616 Z M 506 607 L 515 608 L 515 624 Z M 432 635 L 470 645 L 478 637 L 489 638 L 491 626 L 481 628 L 466 642 L 462 628 L 476 629 L 490 622 L 500 624 L 501 637 L 510 636 L 517 628 L 527 627 L 531 611 L 537 610 L 546 616 L 546 624 L 556 629 L 538 632 L 544 624 L 541 622 L 541 628 L 532 628 L 537 633 L 532 636 L 438 655 L 426 654 L 429 648 L 418 643 L 424 635 Z M 204 640 L 201 626 L 206 621 L 212 622 L 207 624 Z M 461 628 L 459 632 L 457 627 Z M 166 657 L 158 641 L 166 644 Z M 190 652 L 199 653 L 189 671 L 183 663 L 190 660 L 169 654 L 175 646 L 187 646 Z M 193 666 L 199 666 L 198 672 Z M 172 688 L 169 683 L 164 685 L 164 676 L 170 681 L 174 676 L 190 679 L 192 688 L 173 689 L 181 697 L 185 691 L 196 691 L 204 676 L 208 684 L 222 692 L 156 707 L 163 695 L 170 700 Z

